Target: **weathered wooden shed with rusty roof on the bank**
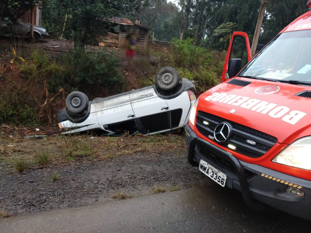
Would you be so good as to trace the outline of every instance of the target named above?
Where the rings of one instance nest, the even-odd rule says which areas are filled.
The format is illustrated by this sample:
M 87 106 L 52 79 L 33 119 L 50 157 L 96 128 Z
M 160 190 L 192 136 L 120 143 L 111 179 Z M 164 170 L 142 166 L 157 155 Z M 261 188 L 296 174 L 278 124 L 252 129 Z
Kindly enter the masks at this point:
M 100 46 L 114 46 L 118 48 L 127 47 L 127 36 L 136 30 L 138 36 L 137 50 L 147 51 L 149 49 L 149 28 L 134 24 L 128 19 L 113 17 L 107 20 L 114 26 L 114 32 L 108 32 L 98 38 Z

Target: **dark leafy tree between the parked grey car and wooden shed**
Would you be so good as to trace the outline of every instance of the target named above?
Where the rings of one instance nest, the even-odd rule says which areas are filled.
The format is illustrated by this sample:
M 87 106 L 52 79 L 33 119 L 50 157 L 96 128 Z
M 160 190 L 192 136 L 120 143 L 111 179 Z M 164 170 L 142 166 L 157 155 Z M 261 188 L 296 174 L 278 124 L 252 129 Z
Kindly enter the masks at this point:
M 96 43 L 96 37 L 104 34 L 110 17 L 121 16 L 125 12 L 136 10 L 138 6 L 138 2 L 132 0 L 47 1 L 49 4 L 44 7 L 59 9 L 58 11 L 62 12 L 62 15 L 51 14 L 55 21 L 63 21 L 65 14 L 68 15 L 67 21 L 71 26 L 75 47 L 82 49 L 87 43 Z

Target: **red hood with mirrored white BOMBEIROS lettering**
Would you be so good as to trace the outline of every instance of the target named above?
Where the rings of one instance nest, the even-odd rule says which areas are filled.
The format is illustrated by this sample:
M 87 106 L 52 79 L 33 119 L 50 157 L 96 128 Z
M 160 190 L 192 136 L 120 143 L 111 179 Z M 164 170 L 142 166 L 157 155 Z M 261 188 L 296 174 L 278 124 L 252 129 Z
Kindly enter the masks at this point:
M 251 127 L 276 137 L 279 143 L 289 144 L 311 135 L 311 86 L 235 77 L 200 95 L 197 111 Z

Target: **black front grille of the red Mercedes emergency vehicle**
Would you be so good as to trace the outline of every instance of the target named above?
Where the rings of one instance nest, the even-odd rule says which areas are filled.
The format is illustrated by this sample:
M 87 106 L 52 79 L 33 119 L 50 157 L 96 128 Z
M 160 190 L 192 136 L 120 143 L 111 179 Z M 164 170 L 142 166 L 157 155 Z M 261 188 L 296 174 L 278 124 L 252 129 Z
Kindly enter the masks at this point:
M 202 111 L 197 114 L 196 127 L 202 135 L 211 138 L 214 137 L 215 127 L 221 122 L 230 126 L 230 136 L 225 143 L 218 143 L 215 139 L 214 141 L 227 148 L 229 148 L 228 144 L 231 144 L 236 148 L 235 152 L 245 156 L 259 158 L 277 142 L 276 137 Z

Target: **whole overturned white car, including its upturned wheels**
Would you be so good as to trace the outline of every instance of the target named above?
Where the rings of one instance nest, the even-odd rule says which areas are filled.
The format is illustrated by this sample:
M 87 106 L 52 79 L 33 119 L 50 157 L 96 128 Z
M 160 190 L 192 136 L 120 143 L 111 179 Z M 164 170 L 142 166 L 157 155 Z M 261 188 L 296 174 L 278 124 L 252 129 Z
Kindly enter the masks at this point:
M 195 101 L 195 87 L 180 81 L 172 67 L 160 69 L 156 85 L 89 101 L 74 91 L 67 96 L 66 108 L 57 113 L 63 133 L 104 130 L 117 134 L 124 130 L 142 134 L 161 133 L 187 125 Z

